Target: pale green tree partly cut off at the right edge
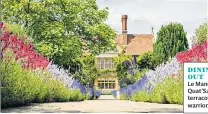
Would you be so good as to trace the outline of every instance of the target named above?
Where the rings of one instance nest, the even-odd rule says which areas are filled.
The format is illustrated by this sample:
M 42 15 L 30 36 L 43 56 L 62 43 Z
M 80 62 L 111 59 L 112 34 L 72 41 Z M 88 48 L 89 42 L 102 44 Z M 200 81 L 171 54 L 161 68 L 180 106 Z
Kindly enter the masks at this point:
M 207 39 L 207 21 L 202 23 L 195 31 L 196 43 L 201 44 Z

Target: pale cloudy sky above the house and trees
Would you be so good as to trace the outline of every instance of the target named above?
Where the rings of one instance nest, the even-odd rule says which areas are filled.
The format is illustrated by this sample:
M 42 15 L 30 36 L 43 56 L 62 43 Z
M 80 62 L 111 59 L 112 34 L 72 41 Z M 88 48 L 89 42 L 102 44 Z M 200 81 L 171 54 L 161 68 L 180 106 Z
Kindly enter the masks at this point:
M 160 27 L 170 22 L 181 23 L 187 38 L 207 18 L 207 0 L 96 0 L 100 9 L 108 7 L 106 21 L 121 33 L 121 16 L 128 15 L 129 34 L 148 34 L 152 27 L 157 35 Z M 155 37 L 156 38 L 156 37 Z

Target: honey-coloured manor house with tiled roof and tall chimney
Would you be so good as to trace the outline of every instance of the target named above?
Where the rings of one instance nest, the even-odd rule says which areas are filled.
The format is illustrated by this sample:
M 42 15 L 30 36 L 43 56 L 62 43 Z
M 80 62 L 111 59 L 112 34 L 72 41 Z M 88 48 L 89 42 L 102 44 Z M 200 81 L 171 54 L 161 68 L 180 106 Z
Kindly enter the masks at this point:
M 127 15 L 122 15 L 122 33 L 116 37 L 116 51 L 109 51 L 96 56 L 97 67 L 101 70 L 113 69 L 113 58 L 120 53 L 125 55 L 141 55 L 153 50 L 154 32 L 150 34 L 128 34 L 127 32 Z M 112 91 L 119 90 L 119 83 L 115 72 L 105 72 L 94 80 L 94 88 L 97 90 Z

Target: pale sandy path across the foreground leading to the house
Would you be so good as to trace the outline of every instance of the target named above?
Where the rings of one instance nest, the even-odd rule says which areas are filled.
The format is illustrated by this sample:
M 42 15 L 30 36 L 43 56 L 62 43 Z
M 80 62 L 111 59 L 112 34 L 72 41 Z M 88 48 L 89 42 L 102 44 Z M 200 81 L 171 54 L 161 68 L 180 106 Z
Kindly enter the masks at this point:
M 106 99 L 107 98 L 107 99 Z M 41 103 L 18 108 L 2 109 L 9 113 L 91 113 L 91 112 L 132 112 L 132 113 L 182 113 L 183 105 L 157 104 L 133 102 L 128 100 L 109 99 L 111 96 L 100 96 L 98 100 L 85 100 L 81 102 Z

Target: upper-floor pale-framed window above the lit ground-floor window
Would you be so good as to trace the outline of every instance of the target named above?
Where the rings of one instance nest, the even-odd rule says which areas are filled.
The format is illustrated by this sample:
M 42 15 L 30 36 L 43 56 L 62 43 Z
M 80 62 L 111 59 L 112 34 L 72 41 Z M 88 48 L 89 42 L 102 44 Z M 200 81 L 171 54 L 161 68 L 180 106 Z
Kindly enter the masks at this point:
M 99 69 L 112 69 L 113 60 L 112 59 L 98 59 L 98 68 Z

